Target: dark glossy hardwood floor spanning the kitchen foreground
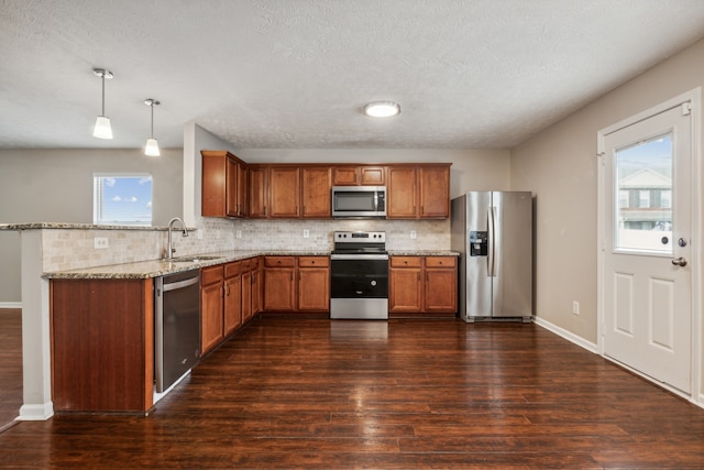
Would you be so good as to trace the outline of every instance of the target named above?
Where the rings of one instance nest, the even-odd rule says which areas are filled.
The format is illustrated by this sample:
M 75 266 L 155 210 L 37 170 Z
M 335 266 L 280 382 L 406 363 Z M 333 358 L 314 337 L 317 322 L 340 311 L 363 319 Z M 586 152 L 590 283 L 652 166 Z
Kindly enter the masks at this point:
M 535 325 L 267 317 L 147 417 L 6 430 L 0 467 L 701 469 L 704 409 Z

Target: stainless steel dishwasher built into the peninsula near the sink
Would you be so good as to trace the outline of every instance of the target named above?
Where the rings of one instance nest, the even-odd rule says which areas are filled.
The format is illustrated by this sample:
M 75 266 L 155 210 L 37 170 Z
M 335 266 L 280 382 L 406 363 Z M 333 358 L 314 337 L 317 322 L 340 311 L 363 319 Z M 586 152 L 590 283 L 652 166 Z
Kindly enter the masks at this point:
M 200 271 L 156 277 L 154 376 L 162 393 L 200 359 Z

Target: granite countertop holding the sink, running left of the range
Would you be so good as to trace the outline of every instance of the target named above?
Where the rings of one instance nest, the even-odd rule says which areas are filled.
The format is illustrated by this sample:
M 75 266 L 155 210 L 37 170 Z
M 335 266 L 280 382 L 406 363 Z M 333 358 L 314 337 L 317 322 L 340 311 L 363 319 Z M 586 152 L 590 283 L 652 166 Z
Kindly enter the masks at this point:
M 134 263 L 109 264 L 105 266 L 82 267 L 70 271 L 57 271 L 44 273 L 42 277 L 50 280 L 98 280 L 98 278 L 122 278 L 143 280 L 175 274 L 184 271 L 197 270 L 216 264 L 229 263 L 232 261 L 246 260 L 248 258 L 284 255 L 284 256 L 327 256 L 329 251 L 266 251 L 266 250 L 231 250 L 216 253 L 202 253 L 194 255 L 183 255 L 174 261 L 150 260 Z M 196 259 L 198 261 L 183 262 L 179 259 Z

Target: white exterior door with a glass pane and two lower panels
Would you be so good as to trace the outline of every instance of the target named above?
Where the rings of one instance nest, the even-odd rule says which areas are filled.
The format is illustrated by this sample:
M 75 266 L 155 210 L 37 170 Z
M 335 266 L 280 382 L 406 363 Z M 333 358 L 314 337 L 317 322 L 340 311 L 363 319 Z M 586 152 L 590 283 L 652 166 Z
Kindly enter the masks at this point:
M 663 107 L 666 108 L 666 107 Z M 605 356 L 691 393 L 689 103 L 600 133 Z

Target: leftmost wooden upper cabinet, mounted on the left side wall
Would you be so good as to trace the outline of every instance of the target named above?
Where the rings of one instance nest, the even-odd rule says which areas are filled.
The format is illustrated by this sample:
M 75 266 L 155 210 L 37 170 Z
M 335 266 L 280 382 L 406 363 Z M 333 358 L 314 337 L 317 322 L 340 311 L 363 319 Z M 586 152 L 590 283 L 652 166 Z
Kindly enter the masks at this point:
M 201 216 L 246 216 L 246 164 L 222 150 L 204 150 L 200 154 L 202 156 Z

